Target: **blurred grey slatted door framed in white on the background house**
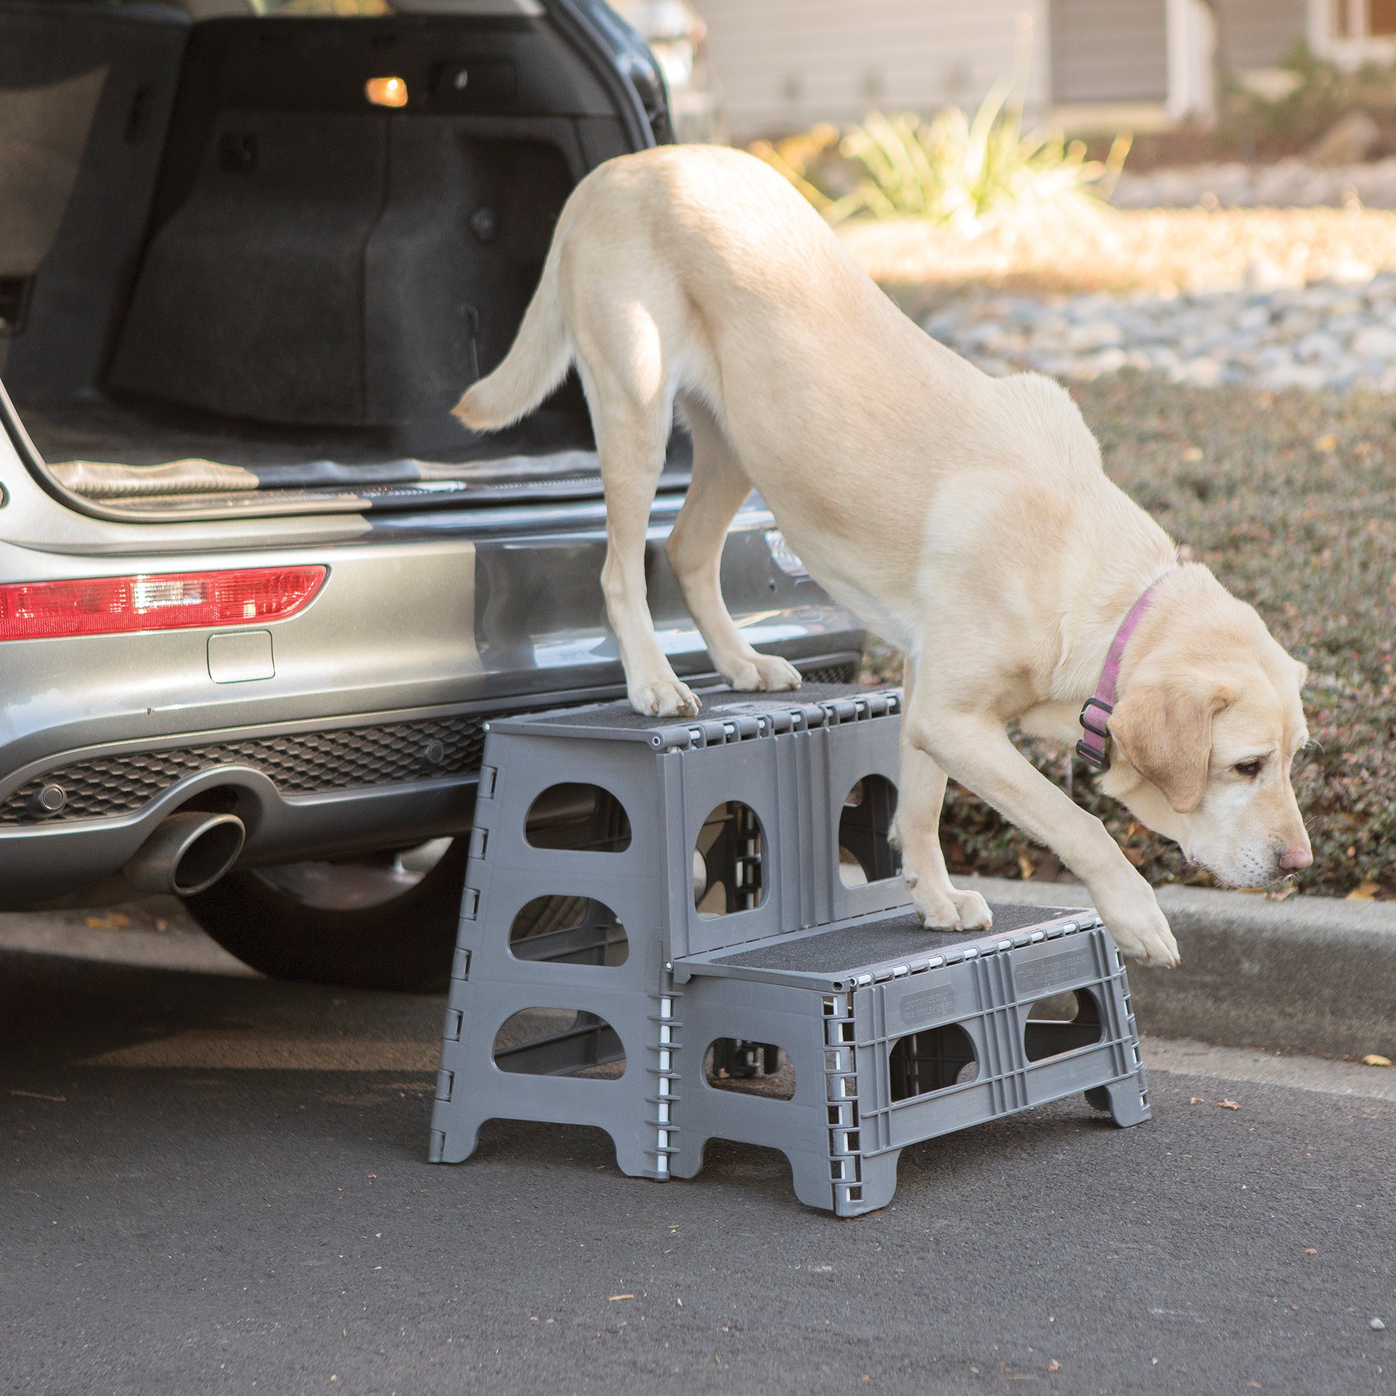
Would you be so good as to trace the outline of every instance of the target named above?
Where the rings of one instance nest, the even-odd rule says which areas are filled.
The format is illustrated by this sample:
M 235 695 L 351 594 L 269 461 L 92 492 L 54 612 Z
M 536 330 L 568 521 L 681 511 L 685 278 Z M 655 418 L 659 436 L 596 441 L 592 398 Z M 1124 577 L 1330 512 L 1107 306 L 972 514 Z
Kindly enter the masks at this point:
M 1168 95 L 1164 0 L 1051 0 L 1054 102 L 1161 102 Z

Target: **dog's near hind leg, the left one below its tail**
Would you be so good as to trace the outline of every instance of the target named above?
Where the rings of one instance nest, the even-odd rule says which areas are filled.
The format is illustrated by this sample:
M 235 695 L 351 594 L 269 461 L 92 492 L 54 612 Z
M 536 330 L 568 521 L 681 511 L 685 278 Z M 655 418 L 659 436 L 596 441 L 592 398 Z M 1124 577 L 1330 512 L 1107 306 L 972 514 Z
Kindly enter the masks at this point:
M 658 335 L 655 338 L 658 341 Z M 646 716 L 691 718 L 701 704 L 688 685 L 680 683 L 659 648 L 645 586 L 649 511 L 669 445 L 673 398 L 658 381 L 658 342 L 641 348 L 655 357 L 656 383 L 649 392 L 638 391 L 610 364 L 578 356 L 606 493 L 602 592 L 620 645 L 630 705 Z

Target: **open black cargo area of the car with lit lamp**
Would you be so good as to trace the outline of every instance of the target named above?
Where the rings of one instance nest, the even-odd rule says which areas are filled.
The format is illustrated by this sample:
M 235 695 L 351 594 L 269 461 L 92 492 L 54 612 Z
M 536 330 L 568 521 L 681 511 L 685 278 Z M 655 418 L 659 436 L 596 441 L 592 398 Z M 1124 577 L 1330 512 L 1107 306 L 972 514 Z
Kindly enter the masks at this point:
M 52 479 L 147 517 L 595 493 L 575 377 L 493 437 L 450 409 L 632 144 L 546 13 L 0 0 L 0 377 Z

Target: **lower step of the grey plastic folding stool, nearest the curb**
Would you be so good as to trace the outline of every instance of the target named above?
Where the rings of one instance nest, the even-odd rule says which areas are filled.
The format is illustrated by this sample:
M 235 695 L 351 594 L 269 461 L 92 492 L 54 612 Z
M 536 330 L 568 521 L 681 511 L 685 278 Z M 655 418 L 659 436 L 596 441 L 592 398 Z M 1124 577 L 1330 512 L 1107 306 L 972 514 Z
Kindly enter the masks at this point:
M 673 962 L 671 1175 L 694 1177 L 708 1139 L 765 1145 L 803 1202 L 859 1216 L 892 1199 L 910 1143 L 1078 1092 L 1118 1125 L 1146 1120 L 1100 917 L 993 912 L 988 933 L 881 913 Z

